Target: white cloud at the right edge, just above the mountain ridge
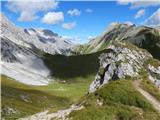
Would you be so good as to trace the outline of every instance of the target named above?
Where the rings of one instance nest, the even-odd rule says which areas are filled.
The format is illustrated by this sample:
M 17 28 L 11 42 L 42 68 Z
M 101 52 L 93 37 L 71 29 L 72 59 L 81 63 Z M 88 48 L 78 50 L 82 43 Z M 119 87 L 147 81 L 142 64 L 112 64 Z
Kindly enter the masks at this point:
M 145 24 L 149 26 L 160 26 L 160 8 L 145 20 Z

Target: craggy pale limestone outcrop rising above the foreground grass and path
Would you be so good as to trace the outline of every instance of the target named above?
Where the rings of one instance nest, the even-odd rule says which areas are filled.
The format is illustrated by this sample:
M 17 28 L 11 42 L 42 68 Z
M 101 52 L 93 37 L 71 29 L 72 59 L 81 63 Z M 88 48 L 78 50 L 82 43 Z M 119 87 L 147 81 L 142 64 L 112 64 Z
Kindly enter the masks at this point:
M 111 80 L 136 77 L 141 71 L 146 71 L 152 81 L 159 81 L 153 74 L 160 75 L 159 67 L 155 68 L 149 61 L 152 55 L 146 50 L 135 47 L 129 43 L 116 42 L 108 47 L 108 52 L 100 57 L 99 71 L 90 85 L 89 91 L 94 92 Z M 156 82 L 159 84 L 158 82 Z

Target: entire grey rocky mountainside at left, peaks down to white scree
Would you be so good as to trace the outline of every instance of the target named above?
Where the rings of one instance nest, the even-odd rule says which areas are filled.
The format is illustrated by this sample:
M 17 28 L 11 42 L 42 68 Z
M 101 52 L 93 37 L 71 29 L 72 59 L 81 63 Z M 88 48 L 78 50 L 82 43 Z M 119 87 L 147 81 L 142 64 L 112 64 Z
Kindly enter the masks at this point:
M 23 29 L 1 14 L 2 74 L 23 83 L 46 85 L 50 70 L 42 54 L 72 53 L 72 43 L 46 29 Z

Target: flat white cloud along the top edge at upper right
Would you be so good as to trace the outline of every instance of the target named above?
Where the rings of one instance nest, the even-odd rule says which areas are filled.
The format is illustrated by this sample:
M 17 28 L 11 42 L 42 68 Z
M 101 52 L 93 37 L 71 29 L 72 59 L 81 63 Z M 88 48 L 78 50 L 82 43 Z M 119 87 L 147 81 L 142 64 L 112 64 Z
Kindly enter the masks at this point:
M 149 6 L 159 6 L 159 0 L 118 0 L 118 4 L 120 5 L 131 5 L 131 9 L 140 8 L 140 7 L 149 7 Z

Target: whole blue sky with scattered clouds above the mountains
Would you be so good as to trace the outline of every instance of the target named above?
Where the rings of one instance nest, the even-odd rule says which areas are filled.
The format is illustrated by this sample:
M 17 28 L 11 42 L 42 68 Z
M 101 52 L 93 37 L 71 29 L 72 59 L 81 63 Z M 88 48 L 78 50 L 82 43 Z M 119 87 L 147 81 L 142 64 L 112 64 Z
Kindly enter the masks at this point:
M 17 26 L 51 29 L 61 36 L 75 38 L 75 42 L 79 43 L 86 43 L 89 36 L 100 35 L 112 22 L 132 22 L 136 25 L 157 25 L 158 22 L 159 25 L 157 19 L 160 18 L 158 1 L 151 1 L 149 4 L 145 2 L 124 3 L 123 0 L 119 2 L 51 1 L 51 4 L 43 2 L 39 4 L 39 7 L 37 7 L 38 4 L 34 5 L 30 1 L 24 4 L 19 3 L 2 2 L 2 12 Z

